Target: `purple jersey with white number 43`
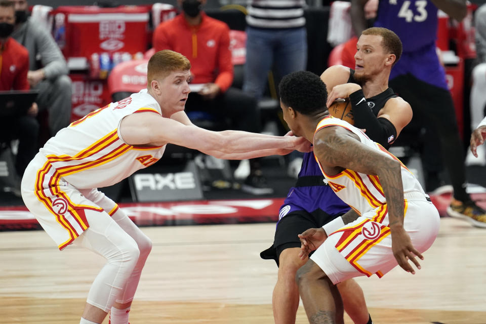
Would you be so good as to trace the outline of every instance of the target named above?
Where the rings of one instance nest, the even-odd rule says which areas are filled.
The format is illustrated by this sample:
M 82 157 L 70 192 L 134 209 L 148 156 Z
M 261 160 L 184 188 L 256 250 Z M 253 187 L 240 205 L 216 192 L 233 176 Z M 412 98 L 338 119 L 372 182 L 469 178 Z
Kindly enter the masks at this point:
M 414 52 L 435 44 L 437 7 L 429 0 L 380 0 L 375 27 L 393 30 L 403 52 Z

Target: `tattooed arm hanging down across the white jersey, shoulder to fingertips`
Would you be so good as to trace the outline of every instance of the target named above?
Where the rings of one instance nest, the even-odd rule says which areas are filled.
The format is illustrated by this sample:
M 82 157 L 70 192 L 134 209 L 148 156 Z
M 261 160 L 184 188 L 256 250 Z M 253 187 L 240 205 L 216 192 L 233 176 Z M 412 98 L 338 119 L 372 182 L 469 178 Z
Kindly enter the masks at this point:
M 378 176 L 388 207 L 393 254 L 404 270 L 415 274 L 407 258 L 420 269 L 414 255 L 423 257 L 403 229 L 403 183 L 399 161 L 363 145 L 355 134 L 336 126 L 322 128 L 315 134 L 314 154 L 329 174 L 350 169 Z

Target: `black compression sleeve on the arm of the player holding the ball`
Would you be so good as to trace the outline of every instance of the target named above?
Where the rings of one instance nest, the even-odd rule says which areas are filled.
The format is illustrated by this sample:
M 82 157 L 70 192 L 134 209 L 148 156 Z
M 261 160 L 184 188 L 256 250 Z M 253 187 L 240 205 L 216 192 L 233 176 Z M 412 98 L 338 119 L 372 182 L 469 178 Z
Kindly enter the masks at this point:
M 377 118 L 366 103 L 362 90 L 349 95 L 351 107 L 353 108 L 354 126 L 366 129 L 366 135 L 383 147 L 390 147 L 391 142 L 396 138 L 396 129 L 390 120 Z

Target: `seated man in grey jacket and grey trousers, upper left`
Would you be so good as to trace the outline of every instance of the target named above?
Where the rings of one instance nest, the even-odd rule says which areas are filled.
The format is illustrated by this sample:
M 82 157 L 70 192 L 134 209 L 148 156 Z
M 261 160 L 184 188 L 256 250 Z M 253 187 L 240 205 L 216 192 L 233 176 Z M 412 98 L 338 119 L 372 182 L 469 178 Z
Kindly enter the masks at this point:
M 26 0 L 13 0 L 17 18 L 12 37 L 29 51 L 27 79 L 31 89 L 39 91 L 39 111 L 49 111 L 52 136 L 69 125 L 71 118 L 71 79 L 59 47 L 49 30 L 39 28 L 28 18 Z

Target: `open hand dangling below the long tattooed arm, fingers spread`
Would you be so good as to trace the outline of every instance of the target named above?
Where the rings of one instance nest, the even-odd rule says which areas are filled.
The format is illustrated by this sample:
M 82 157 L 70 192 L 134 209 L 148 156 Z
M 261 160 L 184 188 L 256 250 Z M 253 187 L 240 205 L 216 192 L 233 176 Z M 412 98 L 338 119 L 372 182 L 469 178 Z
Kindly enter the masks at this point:
M 415 274 L 415 270 L 409 263 L 409 260 L 415 264 L 417 269 L 420 269 L 420 263 L 416 257 L 421 260 L 424 259 L 422 254 L 417 251 L 412 245 L 409 234 L 402 228 L 394 229 L 391 233 L 391 250 L 395 256 L 398 265 L 405 271 Z

